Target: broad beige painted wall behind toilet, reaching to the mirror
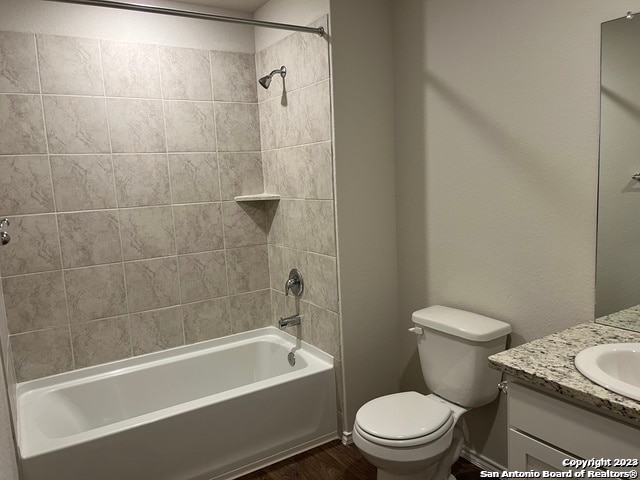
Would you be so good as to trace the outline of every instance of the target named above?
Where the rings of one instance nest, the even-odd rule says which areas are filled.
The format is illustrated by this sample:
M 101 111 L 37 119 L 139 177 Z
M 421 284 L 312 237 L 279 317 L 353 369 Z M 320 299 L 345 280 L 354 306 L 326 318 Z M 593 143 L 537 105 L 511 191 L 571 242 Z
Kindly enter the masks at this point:
M 392 3 L 403 328 L 438 303 L 513 344 L 593 320 L 600 23 L 640 2 Z M 402 388 L 424 389 L 402 339 Z M 503 407 L 467 423 L 505 465 Z

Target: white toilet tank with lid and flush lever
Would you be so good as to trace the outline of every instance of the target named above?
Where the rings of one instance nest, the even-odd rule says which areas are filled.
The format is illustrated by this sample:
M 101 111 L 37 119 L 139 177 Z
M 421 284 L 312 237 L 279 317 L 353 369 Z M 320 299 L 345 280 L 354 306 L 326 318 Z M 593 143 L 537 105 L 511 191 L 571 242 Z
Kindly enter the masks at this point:
M 422 328 L 420 365 L 433 393 L 468 408 L 496 398 L 501 372 L 489 368 L 487 357 L 505 349 L 511 325 L 441 305 L 418 310 L 411 319 Z

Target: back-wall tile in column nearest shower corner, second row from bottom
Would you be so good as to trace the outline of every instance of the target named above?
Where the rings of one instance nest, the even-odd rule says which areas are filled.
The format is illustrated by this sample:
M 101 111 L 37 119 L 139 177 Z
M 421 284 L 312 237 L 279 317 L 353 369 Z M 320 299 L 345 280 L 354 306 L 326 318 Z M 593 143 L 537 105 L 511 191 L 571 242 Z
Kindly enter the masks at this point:
M 269 288 L 266 245 L 226 250 L 229 293 L 232 295 Z

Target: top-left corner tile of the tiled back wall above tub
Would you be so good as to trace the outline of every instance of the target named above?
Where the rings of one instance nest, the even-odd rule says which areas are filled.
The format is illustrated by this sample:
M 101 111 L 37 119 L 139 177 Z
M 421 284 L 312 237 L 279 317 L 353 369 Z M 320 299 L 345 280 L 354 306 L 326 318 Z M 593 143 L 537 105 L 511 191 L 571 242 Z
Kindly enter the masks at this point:
M 33 34 L 0 32 L 0 92 L 38 93 L 39 91 Z

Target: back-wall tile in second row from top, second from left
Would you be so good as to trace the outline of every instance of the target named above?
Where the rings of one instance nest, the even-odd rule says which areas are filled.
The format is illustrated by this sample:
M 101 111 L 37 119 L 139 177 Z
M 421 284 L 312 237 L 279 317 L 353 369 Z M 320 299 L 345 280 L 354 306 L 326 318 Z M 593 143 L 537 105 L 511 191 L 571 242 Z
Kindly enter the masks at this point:
M 44 96 L 50 153 L 109 153 L 103 98 Z

